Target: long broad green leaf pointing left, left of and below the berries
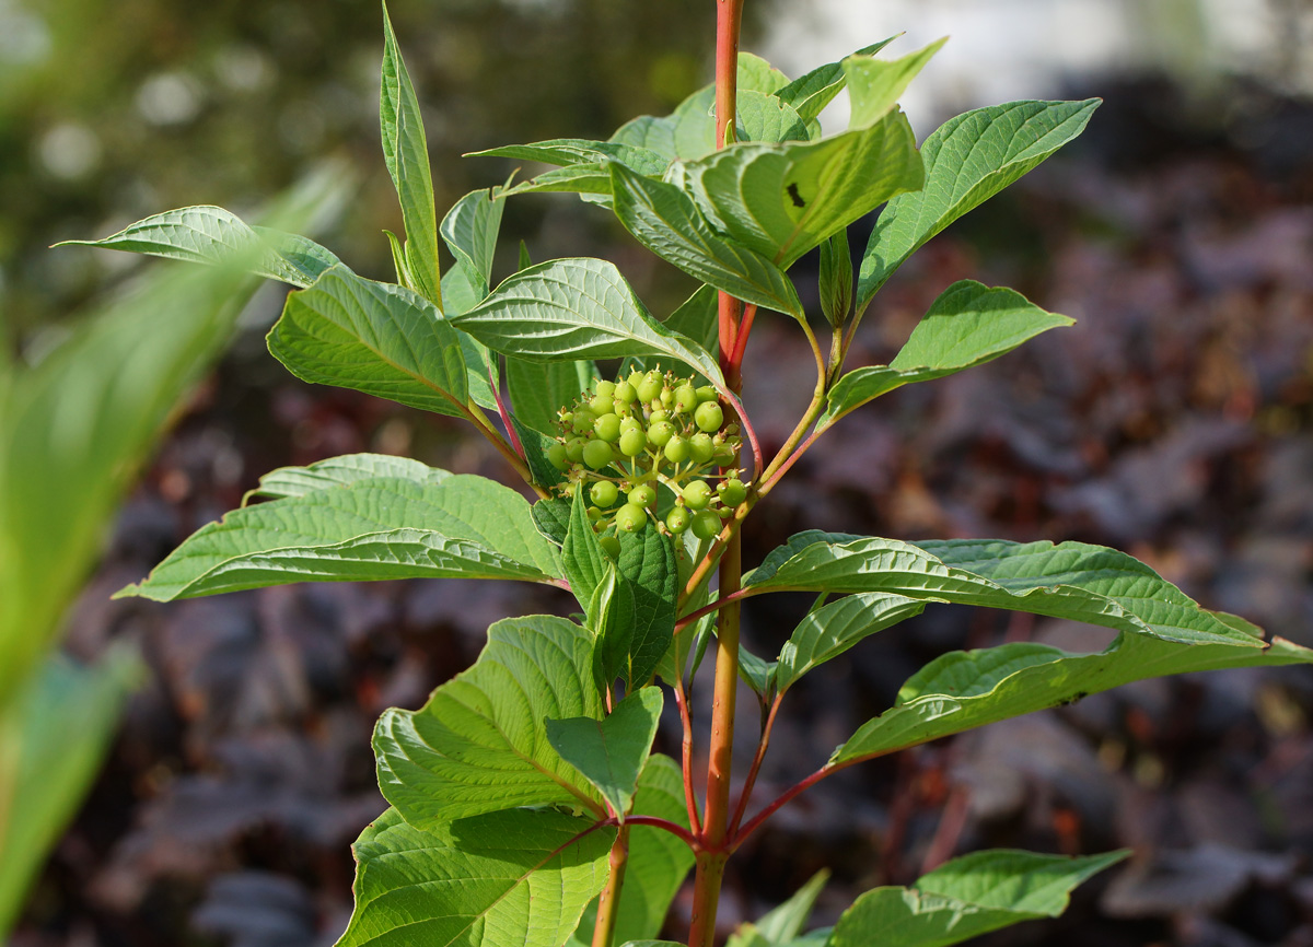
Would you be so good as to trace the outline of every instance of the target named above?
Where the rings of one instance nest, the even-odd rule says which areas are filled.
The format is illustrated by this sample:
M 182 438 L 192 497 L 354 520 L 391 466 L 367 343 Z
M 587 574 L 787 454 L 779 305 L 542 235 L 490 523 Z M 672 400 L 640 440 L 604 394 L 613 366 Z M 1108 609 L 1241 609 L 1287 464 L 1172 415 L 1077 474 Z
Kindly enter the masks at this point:
M 561 576 L 529 504 L 484 477 L 370 477 L 228 513 L 119 595 L 158 602 L 289 582 Z

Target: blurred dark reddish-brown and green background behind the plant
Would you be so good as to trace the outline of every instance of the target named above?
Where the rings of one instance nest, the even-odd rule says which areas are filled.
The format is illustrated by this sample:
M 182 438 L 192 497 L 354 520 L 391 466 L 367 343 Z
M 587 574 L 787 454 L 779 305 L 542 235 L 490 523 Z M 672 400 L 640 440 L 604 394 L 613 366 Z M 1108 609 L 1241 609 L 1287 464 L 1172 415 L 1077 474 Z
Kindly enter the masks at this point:
M 440 211 L 513 169 L 462 152 L 605 138 L 709 81 L 712 8 L 393 0 Z M 744 49 L 798 75 L 899 31 L 890 54 L 952 35 L 906 101 L 918 136 L 1010 98 L 1106 101 L 1083 138 L 899 272 L 853 363 L 888 361 L 960 278 L 1079 323 L 847 418 L 751 521 L 748 561 L 805 527 L 1075 538 L 1313 645 L 1313 4 L 750 0 Z M 253 214 L 324 159 L 352 190 L 320 243 L 389 278 L 381 231 L 400 219 L 378 144 L 381 50 L 364 0 L 0 0 L 0 348 L 39 366 L 142 272 L 50 244 L 185 205 Z M 823 121 L 843 127 L 842 101 Z M 523 239 L 536 260 L 614 260 L 658 315 L 688 287 L 569 195 L 512 202 L 503 237 L 499 275 Z M 794 273 L 814 298 L 814 262 Z M 382 809 L 377 714 L 421 703 L 492 620 L 567 607 L 460 582 L 109 601 L 276 466 L 374 450 L 507 479 L 448 418 L 286 375 L 263 348 L 281 296 L 256 294 L 68 613 L 70 655 L 130 643 L 146 672 L 14 944 L 331 943 L 351 909 L 348 845 Z M 748 358 L 746 403 L 769 449 L 807 399 L 810 359 L 765 319 Z M 755 651 L 773 656 L 790 607 L 805 603 L 747 610 Z M 796 689 L 762 792 L 814 769 L 935 655 L 1019 639 L 1106 643 L 931 610 Z M 817 919 L 832 922 L 857 892 L 953 853 L 1130 846 L 1129 867 L 1082 889 L 1066 918 L 982 943 L 1313 946 L 1310 715 L 1306 668 L 1153 681 L 848 770 L 731 863 L 726 926 L 822 866 L 835 876 Z M 676 902 L 672 934 L 687 910 Z

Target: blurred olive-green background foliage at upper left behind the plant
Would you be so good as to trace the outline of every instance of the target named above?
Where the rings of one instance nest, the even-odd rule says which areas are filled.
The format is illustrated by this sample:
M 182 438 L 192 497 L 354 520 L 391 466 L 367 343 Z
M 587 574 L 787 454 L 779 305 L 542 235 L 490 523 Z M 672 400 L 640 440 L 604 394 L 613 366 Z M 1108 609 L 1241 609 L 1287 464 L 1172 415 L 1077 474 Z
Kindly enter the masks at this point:
M 425 109 L 439 209 L 511 171 L 461 152 L 604 138 L 637 113 L 668 111 L 710 75 L 708 0 L 394 0 L 390 9 Z M 381 230 L 399 219 L 378 152 L 379 24 L 373 0 L 0 0 L 7 348 L 20 350 L 130 265 L 54 254 L 51 243 L 101 236 L 160 207 L 240 214 L 330 155 L 368 177 L 326 243 L 358 272 L 386 275 Z M 530 245 L 537 226 L 521 222 Z

